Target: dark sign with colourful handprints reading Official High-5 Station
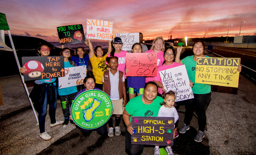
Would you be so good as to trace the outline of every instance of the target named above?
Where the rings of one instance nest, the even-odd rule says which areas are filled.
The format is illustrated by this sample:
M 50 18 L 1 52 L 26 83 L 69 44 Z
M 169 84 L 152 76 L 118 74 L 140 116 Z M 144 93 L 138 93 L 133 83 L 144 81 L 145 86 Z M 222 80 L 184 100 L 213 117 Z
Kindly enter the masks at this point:
M 131 144 L 173 146 L 174 117 L 131 116 Z

